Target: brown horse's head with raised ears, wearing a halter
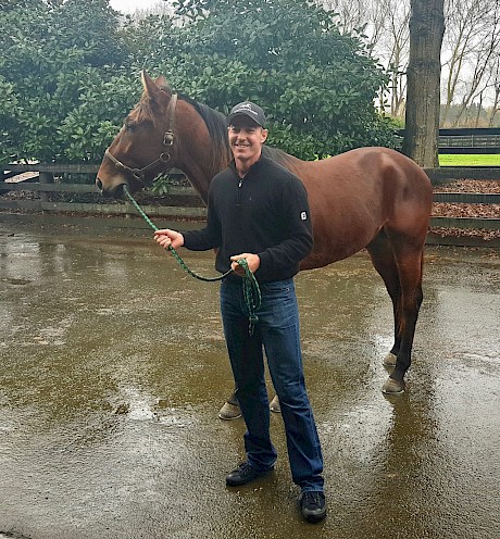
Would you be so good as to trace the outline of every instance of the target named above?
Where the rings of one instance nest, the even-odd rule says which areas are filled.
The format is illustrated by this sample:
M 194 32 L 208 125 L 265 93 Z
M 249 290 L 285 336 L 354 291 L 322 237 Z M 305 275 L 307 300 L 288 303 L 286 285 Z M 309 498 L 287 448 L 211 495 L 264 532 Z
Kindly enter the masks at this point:
M 104 153 L 96 185 L 103 193 L 118 197 L 151 185 L 173 166 L 177 96 L 163 75 L 153 80 L 142 72 L 143 92 Z

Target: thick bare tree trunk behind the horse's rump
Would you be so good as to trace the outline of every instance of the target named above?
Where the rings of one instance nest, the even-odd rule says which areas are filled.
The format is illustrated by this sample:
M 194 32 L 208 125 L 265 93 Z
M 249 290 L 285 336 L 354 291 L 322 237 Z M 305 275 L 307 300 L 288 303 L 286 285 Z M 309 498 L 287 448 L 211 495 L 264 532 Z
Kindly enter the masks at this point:
M 407 123 L 402 151 L 418 165 L 439 166 L 439 104 L 445 0 L 412 0 Z

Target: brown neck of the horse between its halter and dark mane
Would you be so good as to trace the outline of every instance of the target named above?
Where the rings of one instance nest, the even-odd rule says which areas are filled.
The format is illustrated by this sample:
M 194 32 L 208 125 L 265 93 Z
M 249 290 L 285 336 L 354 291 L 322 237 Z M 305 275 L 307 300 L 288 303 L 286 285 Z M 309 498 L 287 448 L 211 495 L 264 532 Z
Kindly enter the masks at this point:
M 203 202 L 208 202 L 209 187 L 212 178 L 227 166 L 229 153 L 220 155 L 214 163 L 214 142 L 207 124 L 192 105 L 179 100 L 176 127 L 177 152 L 174 166 L 186 174 L 189 183 L 197 190 Z

